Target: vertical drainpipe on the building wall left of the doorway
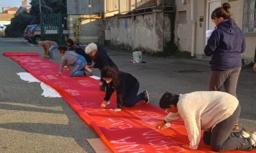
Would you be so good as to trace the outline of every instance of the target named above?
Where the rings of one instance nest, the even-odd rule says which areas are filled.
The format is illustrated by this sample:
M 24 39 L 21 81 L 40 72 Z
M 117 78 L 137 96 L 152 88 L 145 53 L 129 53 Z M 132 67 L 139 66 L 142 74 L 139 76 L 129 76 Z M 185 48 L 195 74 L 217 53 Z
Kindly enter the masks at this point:
M 195 0 L 191 0 L 191 24 L 192 24 L 192 39 L 191 39 L 191 56 L 195 56 L 195 43 L 196 43 L 196 19 L 195 19 Z

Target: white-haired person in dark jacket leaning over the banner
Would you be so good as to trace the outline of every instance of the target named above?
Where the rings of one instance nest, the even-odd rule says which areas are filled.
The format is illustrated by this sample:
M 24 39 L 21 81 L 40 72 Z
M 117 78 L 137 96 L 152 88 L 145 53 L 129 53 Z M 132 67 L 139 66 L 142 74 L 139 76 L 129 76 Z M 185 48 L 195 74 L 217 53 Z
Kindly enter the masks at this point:
M 118 71 L 118 68 L 116 64 L 110 59 L 108 56 L 106 50 L 104 48 L 98 47 L 95 43 L 90 43 L 84 50 L 84 52 L 90 57 L 92 57 L 92 61 L 94 62 L 93 66 L 86 66 L 86 68 L 99 68 L 100 71 L 105 66 L 110 66 L 111 68 L 115 69 L 115 71 Z M 100 77 L 100 91 L 104 91 L 106 87 L 106 82 L 102 80 L 102 77 Z

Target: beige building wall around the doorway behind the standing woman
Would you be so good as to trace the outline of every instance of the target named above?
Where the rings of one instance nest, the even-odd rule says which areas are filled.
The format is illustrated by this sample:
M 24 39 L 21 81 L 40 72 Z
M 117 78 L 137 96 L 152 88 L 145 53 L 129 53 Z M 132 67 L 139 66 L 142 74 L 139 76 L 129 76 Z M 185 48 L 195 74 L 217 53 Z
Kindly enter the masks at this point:
M 195 0 L 194 0 L 195 1 Z M 177 15 L 175 24 L 175 41 L 179 43 L 181 51 L 191 52 L 191 40 L 192 40 L 192 22 L 191 22 L 191 1 L 187 4 L 182 4 L 182 1 L 176 0 Z M 207 43 L 205 40 L 205 29 L 207 21 L 207 0 L 195 1 L 195 17 L 196 17 L 196 40 L 195 40 L 195 56 L 204 56 L 204 47 Z M 243 0 L 228 1 L 222 0 L 223 3 L 230 3 L 231 18 L 236 21 L 236 24 L 240 29 L 243 27 Z M 200 8 L 200 9 L 198 9 Z M 177 22 L 179 17 L 179 11 L 186 11 L 186 22 Z M 210 18 L 211 20 L 211 18 Z M 242 55 L 246 59 L 246 63 L 253 60 L 255 55 L 255 42 L 256 34 L 245 35 L 246 40 L 246 52 Z

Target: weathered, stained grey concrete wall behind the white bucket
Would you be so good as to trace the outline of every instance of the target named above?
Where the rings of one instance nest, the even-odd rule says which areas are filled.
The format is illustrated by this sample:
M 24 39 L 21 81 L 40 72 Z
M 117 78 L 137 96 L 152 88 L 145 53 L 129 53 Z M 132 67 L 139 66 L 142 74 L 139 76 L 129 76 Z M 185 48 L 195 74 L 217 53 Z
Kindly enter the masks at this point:
M 162 10 L 105 20 L 106 40 L 111 46 L 145 52 L 163 51 L 170 40 L 170 19 Z

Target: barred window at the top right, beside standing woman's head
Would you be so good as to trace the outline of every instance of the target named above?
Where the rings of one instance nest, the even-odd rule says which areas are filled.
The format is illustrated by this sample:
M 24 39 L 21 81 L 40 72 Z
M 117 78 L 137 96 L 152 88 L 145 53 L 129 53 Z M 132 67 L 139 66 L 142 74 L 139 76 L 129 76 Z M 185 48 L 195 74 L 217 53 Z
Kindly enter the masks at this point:
M 243 32 L 256 33 L 256 3 L 255 0 L 244 0 Z

